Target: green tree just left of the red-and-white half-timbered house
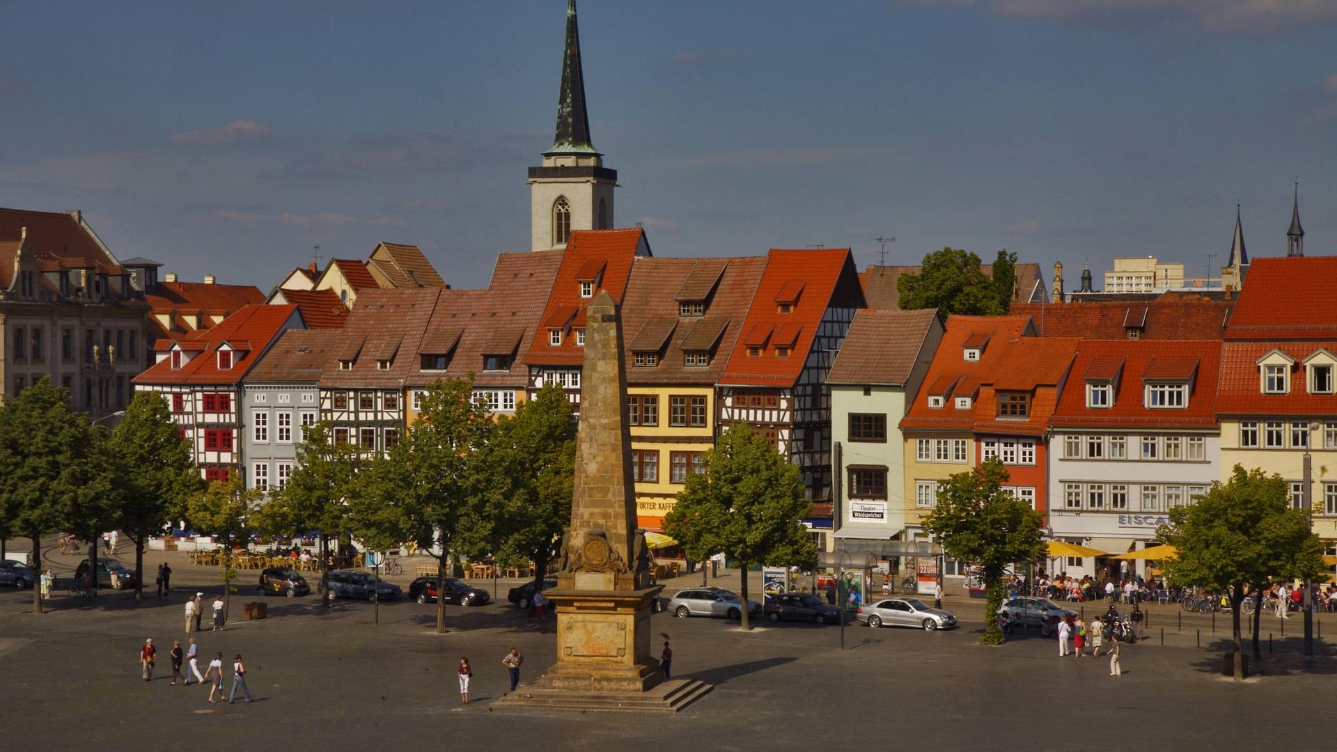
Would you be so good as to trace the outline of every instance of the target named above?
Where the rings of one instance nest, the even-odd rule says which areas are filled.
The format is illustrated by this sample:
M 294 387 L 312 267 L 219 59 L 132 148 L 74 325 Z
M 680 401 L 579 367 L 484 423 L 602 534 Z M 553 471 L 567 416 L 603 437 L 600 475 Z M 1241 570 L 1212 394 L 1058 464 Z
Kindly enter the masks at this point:
M 144 595 L 144 545 L 172 519 L 185 516 L 186 499 L 203 480 L 180 439 L 162 395 L 139 392 L 126 416 L 104 440 L 115 471 L 115 527 L 135 545 L 135 601 Z

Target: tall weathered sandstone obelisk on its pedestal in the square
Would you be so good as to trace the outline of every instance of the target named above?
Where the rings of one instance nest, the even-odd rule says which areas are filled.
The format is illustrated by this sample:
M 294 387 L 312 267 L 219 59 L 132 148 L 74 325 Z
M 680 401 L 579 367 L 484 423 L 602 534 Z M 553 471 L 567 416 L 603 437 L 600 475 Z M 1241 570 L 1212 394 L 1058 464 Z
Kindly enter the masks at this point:
M 650 654 L 650 554 L 636 529 L 627 428 L 622 320 L 607 292 L 590 302 L 580 376 L 580 431 L 571 526 L 562 542 L 558 662 L 543 685 L 587 692 L 644 692 L 659 684 Z

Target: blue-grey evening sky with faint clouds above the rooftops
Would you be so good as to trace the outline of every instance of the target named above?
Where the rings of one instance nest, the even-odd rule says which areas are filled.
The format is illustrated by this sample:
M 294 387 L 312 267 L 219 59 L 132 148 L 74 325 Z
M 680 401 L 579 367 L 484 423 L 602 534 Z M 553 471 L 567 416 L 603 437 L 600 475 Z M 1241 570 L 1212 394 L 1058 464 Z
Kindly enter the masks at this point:
M 566 3 L 0 0 L 0 206 L 269 290 L 528 250 Z M 594 145 L 655 256 L 1337 253 L 1337 0 L 580 0 Z M 318 245 L 320 250 L 313 250 Z M 322 262 L 324 264 L 324 262 Z M 1070 286 L 1072 286 L 1070 284 Z

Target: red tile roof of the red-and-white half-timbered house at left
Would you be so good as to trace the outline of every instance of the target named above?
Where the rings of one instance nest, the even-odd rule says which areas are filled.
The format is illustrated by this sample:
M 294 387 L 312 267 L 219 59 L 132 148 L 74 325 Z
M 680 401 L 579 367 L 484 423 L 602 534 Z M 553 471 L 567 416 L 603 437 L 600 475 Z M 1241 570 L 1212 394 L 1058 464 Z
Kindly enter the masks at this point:
M 135 384 L 238 384 L 255 365 L 265 348 L 285 328 L 299 326 L 301 316 L 295 305 L 247 305 L 225 318 L 213 329 L 197 332 L 180 349 L 197 352 L 179 369 L 172 369 L 171 359 L 148 367 L 135 376 Z M 233 367 L 218 369 L 219 345 L 247 341 L 253 349 L 239 349 L 233 355 Z M 156 348 L 155 348 L 156 349 Z

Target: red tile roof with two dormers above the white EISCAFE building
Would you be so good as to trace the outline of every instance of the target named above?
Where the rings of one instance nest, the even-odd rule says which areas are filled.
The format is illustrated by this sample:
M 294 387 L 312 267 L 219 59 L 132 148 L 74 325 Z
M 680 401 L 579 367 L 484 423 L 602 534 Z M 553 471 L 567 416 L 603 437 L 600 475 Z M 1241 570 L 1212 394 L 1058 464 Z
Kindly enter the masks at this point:
M 1050 426 L 1214 428 L 1221 348 L 1219 340 L 1082 340 L 1078 343 L 1072 375 L 1063 387 Z M 1165 373 L 1183 373 L 1190 363 L 1197 365 L 1197 371 L 1189 388 L 1189 405 L 1185 409 L 1146 407 L 1143 380 L 1161 379 Z M 1087 407 L 1087 381 L 1107 380 L 1111 364 L 1123 368 L 1114 389 L 1114 404 L 1108 408 Z M 1167 369 L 1169 365 L 1174 368 Z M 1257 385 L 1255 376 L 1254 387 Z

